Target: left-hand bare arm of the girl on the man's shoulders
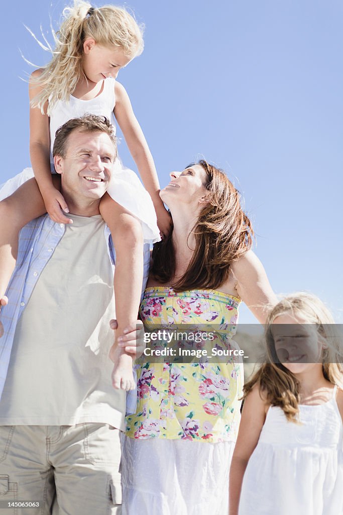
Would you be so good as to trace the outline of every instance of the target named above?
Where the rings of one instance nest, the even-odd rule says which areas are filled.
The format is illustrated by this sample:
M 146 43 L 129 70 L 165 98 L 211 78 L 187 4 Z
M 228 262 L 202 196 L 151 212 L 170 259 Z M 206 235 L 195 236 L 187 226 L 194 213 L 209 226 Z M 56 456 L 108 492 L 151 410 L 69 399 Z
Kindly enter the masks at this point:
M 29 98 L 31 100 L 43 89 L 35 80 L 42 71 L 35 70 L 29 82 Z M 45 208 L 51 219 L 62 224 L 69 224 L 71 220 L 63 213 L 68 213 L 68 206 L 62 194 L 52 183 L 50 170 L 50 133 L 49 117 L 46 114 L 47 102 L 44 105 L 44 114 L 39 107 L 30 106 L 30 158 L 35 180 L 38 183 Z

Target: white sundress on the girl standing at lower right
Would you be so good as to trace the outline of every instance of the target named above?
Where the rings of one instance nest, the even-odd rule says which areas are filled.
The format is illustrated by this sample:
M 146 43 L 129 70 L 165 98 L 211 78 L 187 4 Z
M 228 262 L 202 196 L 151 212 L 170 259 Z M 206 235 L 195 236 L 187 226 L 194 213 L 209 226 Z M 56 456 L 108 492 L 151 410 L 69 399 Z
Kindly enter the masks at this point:
M 342 515 L 343 429 L 336 401 L 300 405 L 300 424 L 270 406 L 243 479 L 239 515 Z

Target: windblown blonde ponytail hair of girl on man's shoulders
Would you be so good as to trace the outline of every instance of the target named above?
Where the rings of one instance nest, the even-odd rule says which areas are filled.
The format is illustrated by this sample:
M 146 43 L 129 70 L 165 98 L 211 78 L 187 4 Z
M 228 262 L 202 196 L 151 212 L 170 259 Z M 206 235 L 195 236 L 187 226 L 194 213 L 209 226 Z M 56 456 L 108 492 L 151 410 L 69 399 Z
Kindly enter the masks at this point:
M 56 48 L 41 46 L 52 53 L 51 61 L 42 68 L 39 77 L 31 79 L 42 86 L 41 92 L 31 101 L 32 107 L 44 105 L 49 100 L 48 114 L 58 100 L 68 101 L 83 76 L 83 42 L 94 38 L 106 47 L 121 48 L 128 57 L 136 57 L 143 51 L 143 27 L 123 7 L 105 5 L 93 8 L 88 2 L 75 0 L 73 7 L 63 10 L 64 21 L 53 32 Z

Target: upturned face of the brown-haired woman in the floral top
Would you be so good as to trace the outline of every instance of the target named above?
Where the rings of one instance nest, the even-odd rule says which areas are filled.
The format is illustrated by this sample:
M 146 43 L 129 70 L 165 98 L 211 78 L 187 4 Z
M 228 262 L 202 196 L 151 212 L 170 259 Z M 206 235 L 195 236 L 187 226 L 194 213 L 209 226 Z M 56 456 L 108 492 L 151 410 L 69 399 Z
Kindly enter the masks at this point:
M 160 191 L 160 197 L 169 208 L 175 203 L 184 203 L 194 208 L 206 196 L 205 184 L 205 170 L 195 164 L 183 171 L 172 171 L 170 182 Z

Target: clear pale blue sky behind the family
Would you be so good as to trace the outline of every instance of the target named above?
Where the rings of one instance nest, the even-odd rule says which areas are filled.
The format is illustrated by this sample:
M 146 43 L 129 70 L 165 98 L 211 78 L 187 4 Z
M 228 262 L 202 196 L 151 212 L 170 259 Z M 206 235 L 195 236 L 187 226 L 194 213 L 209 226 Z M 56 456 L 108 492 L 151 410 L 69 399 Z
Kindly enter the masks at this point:
M 6 6 L 0 182 L 29 165 L 25 57 L 65 3 Z M 96 3 L 99 6 L 101 3 Z M 121 71 L 161 186 L 198 157 L 242 193 L 277 293 L 309 290 L 343 323 L 343 67 L 340 0 L 135 0 L 145 51 Z M 4 22 L 4 20 L 3 20 Z M 51 40 L 51 39 L 50 39 Z M 124 141 L 119 152 L 134 167 Z M 241 321 L 255 322 L 245 306 Z

